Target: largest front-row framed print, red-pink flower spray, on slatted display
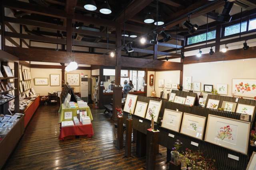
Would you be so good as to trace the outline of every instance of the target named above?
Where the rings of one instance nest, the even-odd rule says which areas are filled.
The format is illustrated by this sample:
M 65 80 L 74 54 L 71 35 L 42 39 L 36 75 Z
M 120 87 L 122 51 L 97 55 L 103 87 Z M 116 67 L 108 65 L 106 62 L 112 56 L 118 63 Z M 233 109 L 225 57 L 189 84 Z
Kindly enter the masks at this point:
M 247 154 L 250 122 L 208 115 L 204 140 Z

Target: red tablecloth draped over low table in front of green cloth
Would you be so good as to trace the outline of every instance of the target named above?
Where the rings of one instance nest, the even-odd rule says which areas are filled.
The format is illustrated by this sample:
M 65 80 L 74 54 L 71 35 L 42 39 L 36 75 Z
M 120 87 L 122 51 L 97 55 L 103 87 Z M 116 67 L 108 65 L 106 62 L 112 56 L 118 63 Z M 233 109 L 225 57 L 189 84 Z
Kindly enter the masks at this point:
M 74 123 L 74 126 L 62 127 L 60 129 L 59 140 L 64 141 L 64 137 L 72 135 L 87 135 L 86 137 L 91 137 L 94 135 L 92 123 L 88 125 L 82 125 L 82 122 L 79 122 L 79 125 L 75 125 Z

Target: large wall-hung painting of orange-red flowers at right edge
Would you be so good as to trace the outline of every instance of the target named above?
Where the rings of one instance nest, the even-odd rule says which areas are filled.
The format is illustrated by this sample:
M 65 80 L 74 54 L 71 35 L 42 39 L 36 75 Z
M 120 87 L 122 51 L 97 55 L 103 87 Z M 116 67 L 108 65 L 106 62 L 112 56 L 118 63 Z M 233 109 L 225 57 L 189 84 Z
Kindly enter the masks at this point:
M 235 96 L 254 98 L 256 96 L 256 79 L 233 79 L 232 93 Z

